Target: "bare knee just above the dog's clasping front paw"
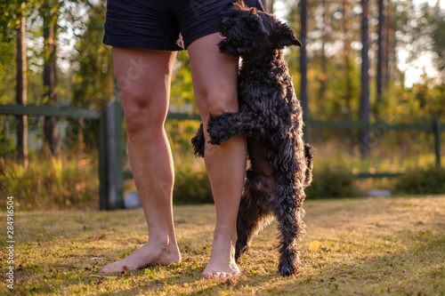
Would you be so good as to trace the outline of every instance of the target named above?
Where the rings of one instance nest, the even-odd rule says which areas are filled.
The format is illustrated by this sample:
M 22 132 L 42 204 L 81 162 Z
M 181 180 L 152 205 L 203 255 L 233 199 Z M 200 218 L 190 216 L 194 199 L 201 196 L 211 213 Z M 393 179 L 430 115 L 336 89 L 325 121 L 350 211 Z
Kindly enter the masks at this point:
M 236 92 L 214 91 L 206 95 L 208 113 L 218 116 L 224 112 L 238 112 Z

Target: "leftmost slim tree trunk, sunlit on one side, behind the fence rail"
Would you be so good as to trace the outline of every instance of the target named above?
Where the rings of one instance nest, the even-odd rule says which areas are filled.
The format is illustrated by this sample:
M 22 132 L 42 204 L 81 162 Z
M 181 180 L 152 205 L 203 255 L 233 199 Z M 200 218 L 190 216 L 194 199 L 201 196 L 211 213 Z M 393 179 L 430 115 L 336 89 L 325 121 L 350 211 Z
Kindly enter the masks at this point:
M 26 47 L 26 18 L 24 16 L 25 3 L 21 4 L 20 28 L 17 29 L 17 84 L 15 102 L 26 106 L 27 92 L 27 47 Z M 17 162 L 28 165 L 28 116 L 16 116 L 17 119 Z

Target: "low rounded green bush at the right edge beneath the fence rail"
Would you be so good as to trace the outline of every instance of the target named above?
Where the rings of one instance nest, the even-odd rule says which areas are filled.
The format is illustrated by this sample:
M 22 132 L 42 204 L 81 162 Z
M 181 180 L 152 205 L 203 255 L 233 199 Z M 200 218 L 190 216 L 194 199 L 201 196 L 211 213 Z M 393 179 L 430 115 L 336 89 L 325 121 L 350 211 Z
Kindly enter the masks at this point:
M 395 190 L 405 194 L 443 194 L 445 193 L 445 168 L 432 166 L 417 169 L 402 175 Z

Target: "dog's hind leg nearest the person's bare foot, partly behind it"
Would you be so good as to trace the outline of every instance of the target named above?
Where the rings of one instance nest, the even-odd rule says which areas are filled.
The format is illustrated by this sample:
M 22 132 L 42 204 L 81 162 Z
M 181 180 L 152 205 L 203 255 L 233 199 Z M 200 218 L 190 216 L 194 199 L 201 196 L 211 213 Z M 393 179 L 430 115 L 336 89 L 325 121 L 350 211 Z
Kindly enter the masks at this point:
M 263 195 L 264 193 L 255 190 L 249 180 L 246 180 L 237 219 L 238 239 L 235 251 L 235 260 L 237 261 L 244 252 L 247 252 L 250 242 L 256 234 L 272 219 L 271 212 L 261 204 Z

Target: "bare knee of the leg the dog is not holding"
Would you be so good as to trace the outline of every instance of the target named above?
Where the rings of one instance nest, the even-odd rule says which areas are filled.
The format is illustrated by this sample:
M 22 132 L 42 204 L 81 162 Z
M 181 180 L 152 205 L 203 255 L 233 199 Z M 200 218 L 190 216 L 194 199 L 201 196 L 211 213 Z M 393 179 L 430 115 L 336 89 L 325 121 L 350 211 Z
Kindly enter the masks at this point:
M 130 138 L 143 138 L 162 130 L 166 119 L 164 110 L 150 95 L 129 92 L 124 94 L 125 126 Z

